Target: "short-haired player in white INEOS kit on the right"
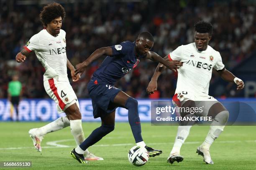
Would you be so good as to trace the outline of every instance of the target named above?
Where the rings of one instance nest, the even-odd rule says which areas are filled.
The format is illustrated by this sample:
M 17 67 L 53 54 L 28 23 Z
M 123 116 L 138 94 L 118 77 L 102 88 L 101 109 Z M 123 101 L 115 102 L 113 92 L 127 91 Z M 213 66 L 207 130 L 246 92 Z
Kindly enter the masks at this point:
M 178 80 L 175 95 L 172 98 L 174 105 L 178 107 L 195 107 L 198 101 L 204 105 L 203 112 L 200 116 L 212 116 L 214 120 L 210 125 L 210 130 L 205 141 L 197 148 L 197 153 L 202 155 L 207 164 L 213 164 L 210 157 L 210 146 L 223 131 L 228 121 L 228 110 L 216 100 L 208 95 L 209 83 L 212 76 L 212 68 L 217 70 L 223 80 L 235 82 L 237 90 L 244 87 L 241 79 L 235 77 L 231 72 L 225 69 L 220 53 L 208 45 L 212 35 L 212 24 L 205 21 L 195 23 L 195 42 L 188 45 L 181 45 L 171 52 L 165 58 L 169 60 L 180 60 L 183 65 L 177 69 Z M 154 93 L 157 89 L 157 79 L 164 66 L 159 64 L 156 68 L 151 82 L 147 87 L 149 94 Z M 196 101 L 196 102 L 195 102 Z M 191 116 L 191 114 L 181 114 L 182 117 Z M 167 162 L 181 162 L 183 157 L 180 155 L 180 148 L 192 127 L 191 124 L 182 122 L 178 127 L 177 136 L 172 151 L 167 158 Z

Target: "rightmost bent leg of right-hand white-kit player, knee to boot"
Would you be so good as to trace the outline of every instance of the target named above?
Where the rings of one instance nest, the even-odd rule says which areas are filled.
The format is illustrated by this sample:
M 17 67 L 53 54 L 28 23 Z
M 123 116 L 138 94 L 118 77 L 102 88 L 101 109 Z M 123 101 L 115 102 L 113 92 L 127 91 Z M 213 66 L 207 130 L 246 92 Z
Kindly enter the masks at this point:
M 198 155 L 202 155 L 204 157 L 204 161 L 207 164 L 213 164 L 209 152 L 210 146 L 223 132 L 228 121 L 229 112 L 220 102 L 216 102 L 210 107 L 207 116 L 214 118 L 214 120 L 212 120 L 210 130 L 205 138 L 205 141 L 197 148 L 197 153 Z

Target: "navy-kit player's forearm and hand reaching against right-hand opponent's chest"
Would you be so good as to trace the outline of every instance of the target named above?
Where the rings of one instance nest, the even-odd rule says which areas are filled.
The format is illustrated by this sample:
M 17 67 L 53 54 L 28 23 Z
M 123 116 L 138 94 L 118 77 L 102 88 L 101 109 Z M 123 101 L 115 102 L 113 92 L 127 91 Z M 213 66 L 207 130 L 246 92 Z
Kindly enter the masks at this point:
M 160 62 L 161 64 L 165 65 L 167 68 L 173 71 L 175 71 L 175 69 L 178 69 L 180 66 L 182 66 L 182 62 L 177 60 L 169 60 L 168 56 L 164 57 L 163 59 L 161 56 L 156 54 L 156 52 L 152 52 L 152 51 L 148 52 L 147 58 L 152 61 Z

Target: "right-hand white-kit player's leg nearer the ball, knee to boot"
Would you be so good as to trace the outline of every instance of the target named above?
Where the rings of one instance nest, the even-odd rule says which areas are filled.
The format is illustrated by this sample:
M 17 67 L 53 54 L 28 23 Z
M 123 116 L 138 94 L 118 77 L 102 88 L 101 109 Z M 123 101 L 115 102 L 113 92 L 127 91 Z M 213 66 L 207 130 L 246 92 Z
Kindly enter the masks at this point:
M 192 100 L 187 100 L 186 102 L 184 102 L 182 107 L 184 108 L 195 107 L 195 102 Z M 194 114 L 190 114 L 188 112 L 181 112 L 180 115 L 182 117 L 195 116 Z M 178 129 L 177 129 L 177 135 L 174 141 L 174 145 L 173 145 L 172 151 L 169 154 L 169 157 L 167 158 L 167 162 L 172 164 L 175 161 L 179 163 L 183 160 L 183 157 L 180 155 L 180 149 L 184 144 L 185 140 L 187 139 L 190 128 L 192 127 L 192 125 L 194 125 L 194 123 L 195 122 L 187 122 L 187 121 L 180 122 L 180 125 L 178 126 Z

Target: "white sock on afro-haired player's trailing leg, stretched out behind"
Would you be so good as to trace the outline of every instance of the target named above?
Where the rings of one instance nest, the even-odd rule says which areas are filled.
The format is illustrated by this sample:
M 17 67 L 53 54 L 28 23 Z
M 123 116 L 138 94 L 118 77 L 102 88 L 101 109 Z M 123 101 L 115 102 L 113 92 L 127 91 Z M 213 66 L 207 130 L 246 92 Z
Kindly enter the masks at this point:
M 55 132 L 57 130 L 61 130 L 63 128 L 68 127 L 70 124 L 69 119 L 65 116 L 59 117 L 53 122 L 48 123 L 47 125 L 38 128 L 38 132 L 40 135 L 46 135 L 47 133 Z

